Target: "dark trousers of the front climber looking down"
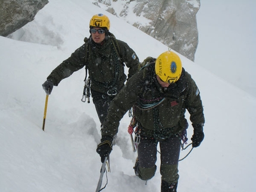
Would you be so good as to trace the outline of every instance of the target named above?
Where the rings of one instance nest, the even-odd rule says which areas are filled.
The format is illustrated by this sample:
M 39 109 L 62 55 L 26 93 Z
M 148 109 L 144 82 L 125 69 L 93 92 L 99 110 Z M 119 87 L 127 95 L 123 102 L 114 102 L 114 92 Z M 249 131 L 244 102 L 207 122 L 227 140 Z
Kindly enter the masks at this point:
M 160 143 L 161 166 L 160 174 L 162 180 L 168 184 L 179 180 L 178 163 L 180 155 L 180 139 L 171 137 L 160 142 L 154 139 L 142 139 L 138 146 L 139 177 L 149 180 L 155 175 L 157 166 L 157 145 Z

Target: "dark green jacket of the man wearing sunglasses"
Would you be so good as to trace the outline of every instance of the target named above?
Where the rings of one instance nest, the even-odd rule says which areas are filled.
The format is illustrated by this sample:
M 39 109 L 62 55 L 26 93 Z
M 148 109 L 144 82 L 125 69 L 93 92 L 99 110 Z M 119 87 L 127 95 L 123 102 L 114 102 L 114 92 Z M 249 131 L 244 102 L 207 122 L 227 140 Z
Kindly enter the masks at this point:
M 127 78 L 124 64 L 129 68 L 130 78 L 138 70 L 139 58 L 127 43 L 108 33 L 101 45 L 98 45 L 90 36 L 89 39 L 85 38 L 85 43 L 58 65 L 47 79 L 53 81 L 54 86 L 58 86 L 61 80 L 86 66 L 92 80 L 91 89 L 105 94 L 113 87 L 117 90 L 123 87 Z

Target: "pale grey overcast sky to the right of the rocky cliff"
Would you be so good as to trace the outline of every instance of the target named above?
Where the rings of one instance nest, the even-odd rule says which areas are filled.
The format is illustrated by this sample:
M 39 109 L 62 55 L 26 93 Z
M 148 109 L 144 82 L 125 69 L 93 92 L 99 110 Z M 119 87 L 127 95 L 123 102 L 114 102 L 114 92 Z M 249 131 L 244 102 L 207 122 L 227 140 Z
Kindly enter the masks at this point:
M 256 1 L 201 1 L 195 62 L 256 96 Z

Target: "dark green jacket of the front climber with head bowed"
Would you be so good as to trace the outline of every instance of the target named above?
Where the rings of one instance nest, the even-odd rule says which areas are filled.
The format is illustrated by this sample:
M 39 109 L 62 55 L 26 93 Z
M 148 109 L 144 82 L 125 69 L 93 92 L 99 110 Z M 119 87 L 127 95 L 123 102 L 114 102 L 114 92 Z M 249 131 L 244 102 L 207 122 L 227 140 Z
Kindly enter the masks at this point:
M 154 64 L 133 75 L 110 103 L 102 136 L 114 137 L 119 121 L 132 107 L 141 135 L 155 139 L 166 139 L 188 128 L 186 109 L 193 127 L 202 127 L 205 121 L 198 87 L 184 69 L 179 80 L 166 88 L 158 83 Z

